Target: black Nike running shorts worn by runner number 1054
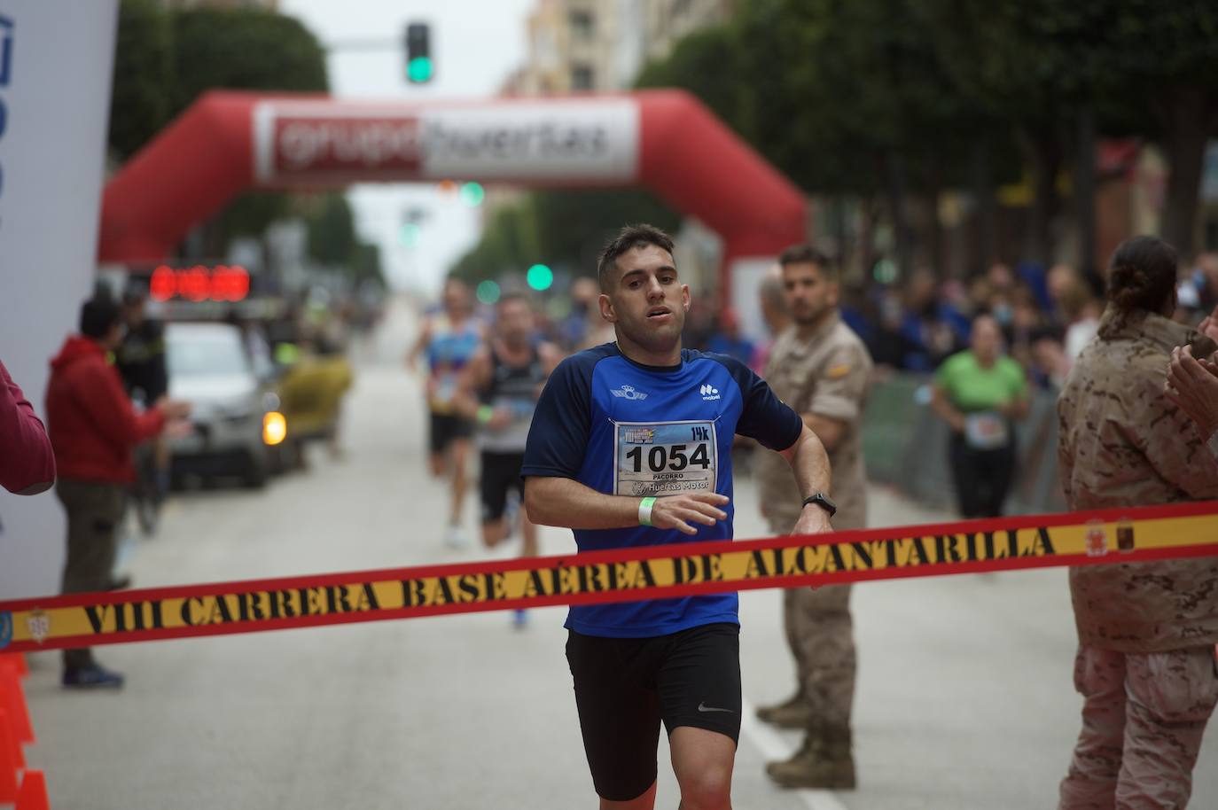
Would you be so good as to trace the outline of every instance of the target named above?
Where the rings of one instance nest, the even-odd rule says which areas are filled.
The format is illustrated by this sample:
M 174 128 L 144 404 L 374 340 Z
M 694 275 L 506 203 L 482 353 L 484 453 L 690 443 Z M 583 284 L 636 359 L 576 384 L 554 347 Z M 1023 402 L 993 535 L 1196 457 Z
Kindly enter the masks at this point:
M 628 801 L 652 787 L 660 721 L 670 736 L 693 726 L 739 742 L 739 625 L 652 638 L 568 632 L 583 750 L 600 798 Z

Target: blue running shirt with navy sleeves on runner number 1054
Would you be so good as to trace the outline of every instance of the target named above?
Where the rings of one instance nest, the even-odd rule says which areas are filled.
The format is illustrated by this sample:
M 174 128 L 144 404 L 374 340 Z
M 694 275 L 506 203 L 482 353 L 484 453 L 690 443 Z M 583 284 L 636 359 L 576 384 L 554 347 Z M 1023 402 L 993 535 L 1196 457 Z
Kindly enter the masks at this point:
M 787 449 L 804 423 L 747 365 L 726 354 L 681 352 L 681 364 L 642 365 L 616 343 L 572 354 L 542 391 L 520 474 L 568 477 L 607 495 L 715 491 L 732 497 L 732 437 Z M 581 552 L 732 537 L 727 520 L 676 529 L 576 529 Z M 739 624 L 736 593 L 574 605 L 566 627 L 587 636 L 665 636 L 716 621 Z

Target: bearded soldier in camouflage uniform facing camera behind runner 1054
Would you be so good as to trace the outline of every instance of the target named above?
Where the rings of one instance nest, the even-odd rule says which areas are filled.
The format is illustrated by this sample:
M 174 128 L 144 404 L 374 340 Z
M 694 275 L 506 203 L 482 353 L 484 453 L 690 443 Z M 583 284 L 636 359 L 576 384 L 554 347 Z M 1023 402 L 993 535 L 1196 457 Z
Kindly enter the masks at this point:
M 838 285 L 828 259 L 808 245 L 783 252 L 783 289 L 794 322 L 770 351 L 765 378 L 775 393 L 804 417 L 823 442 L 833 468 L 833 527 L 862 529 L 866 477 L 859 423 L 871 378 L 866 346 L 838 314 Z M 761 510 L 776 535 L 790 532 L 803 509 L 790 471 L 775 453 L 758 462 Z M 798 691 L 758 710 L 761 720 L 805 728 L 799 752 L 766 772 L 786 787 L 853 788 L 850 709 L 855 652 L 850 586 L 792 588 L 783 594 L 787 642 L 795 658 Z

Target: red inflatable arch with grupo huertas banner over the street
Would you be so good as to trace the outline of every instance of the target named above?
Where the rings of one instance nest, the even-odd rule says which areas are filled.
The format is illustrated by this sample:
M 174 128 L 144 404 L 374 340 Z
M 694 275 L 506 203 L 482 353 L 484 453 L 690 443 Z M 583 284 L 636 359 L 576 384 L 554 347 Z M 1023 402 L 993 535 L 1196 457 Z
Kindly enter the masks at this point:
M 99 258 L 161 262 L 250 188 L 446 178 L 646 186 L 722 236 L 725 272 L 804 238 L 799 190 L 678 90 L 448 104 L 212 91 L 106 185 Z

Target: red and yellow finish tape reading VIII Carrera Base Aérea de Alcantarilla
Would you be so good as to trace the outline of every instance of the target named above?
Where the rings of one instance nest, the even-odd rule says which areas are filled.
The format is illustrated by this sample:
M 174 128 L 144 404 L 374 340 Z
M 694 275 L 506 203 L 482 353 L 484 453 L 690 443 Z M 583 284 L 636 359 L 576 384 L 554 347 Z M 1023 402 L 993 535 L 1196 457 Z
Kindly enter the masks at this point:
M 1218 502 L 0 602 L 28 652 L 557 604 L 1218 557 Z

